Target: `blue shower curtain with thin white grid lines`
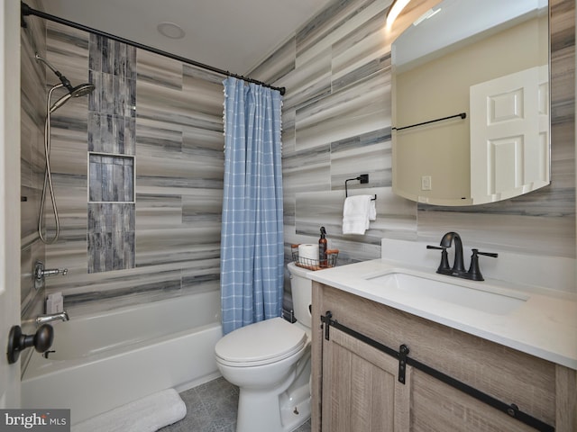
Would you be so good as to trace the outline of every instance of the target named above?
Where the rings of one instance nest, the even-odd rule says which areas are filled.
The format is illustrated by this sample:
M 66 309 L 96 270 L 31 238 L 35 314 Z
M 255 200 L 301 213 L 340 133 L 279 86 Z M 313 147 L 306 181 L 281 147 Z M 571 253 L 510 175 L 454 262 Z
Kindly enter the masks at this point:
M 276 90 L 224 80 L 224 334 L 278 317 L 282 308 L 281 104 Z

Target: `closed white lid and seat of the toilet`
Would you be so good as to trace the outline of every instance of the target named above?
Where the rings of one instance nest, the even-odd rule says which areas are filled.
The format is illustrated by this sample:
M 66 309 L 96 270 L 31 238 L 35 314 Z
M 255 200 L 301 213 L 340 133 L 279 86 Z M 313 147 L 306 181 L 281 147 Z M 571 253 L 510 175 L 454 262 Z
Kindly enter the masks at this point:
M 224 336 L 216 343 L 215 354 L 227 363 L 272 363 L 293 355 L 306 343 L 303 329 L 282 318 L 273 318 Z

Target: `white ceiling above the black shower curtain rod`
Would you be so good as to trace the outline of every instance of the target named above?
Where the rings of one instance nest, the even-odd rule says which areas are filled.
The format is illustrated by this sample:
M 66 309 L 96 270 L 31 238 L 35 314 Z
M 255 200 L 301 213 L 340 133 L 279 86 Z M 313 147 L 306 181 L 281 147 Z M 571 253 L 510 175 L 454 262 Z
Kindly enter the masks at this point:
M 47 14 L 243 75 L 331 1 L 43 0 L 42 5 Z M 161 35 L 159 23 L 177 24 L 184 38 Z

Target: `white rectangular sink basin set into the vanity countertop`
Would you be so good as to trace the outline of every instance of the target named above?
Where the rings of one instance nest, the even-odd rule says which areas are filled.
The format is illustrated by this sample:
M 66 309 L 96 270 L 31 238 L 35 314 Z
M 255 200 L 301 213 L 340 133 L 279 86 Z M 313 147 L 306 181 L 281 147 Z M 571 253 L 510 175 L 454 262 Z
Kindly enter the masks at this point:
M 455 279 L 454 282 L 445 281 L 398 271 L 369 276 L 366 279 L 379 284 L 385 290 L 399 290 L 497 315 L 515 311 L 529 298 L 522 293 L 500 290 L 499 287 L 484 285 L 484 283 L 473 283 L 483 284 L 483 286 L 473 287 L 471 283 L 463 283 L 459 279 Z

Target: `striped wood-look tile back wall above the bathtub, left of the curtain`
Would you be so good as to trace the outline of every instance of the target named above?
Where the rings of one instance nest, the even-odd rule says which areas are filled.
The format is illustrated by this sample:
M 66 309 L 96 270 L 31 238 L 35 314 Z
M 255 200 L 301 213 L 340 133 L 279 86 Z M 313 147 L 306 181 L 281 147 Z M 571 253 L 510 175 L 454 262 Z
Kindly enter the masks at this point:
M 142 49 L 91 40 L 84 31 L 46 25 L 49 61 L 73 85 L 88 80 L 96 85 L 90 97 L 71 99 L 52 114 L 60 241 L 46 247 L 46 260 L 69 274 L 48 279 L 47 291 L 61 291 L 65 307 L 78 315 L 218 290 L 223 77 Z M 125 61 L 106 71 L 99 52 Z M 124 76 L 114 76 L 118 68 Z M 133 215 L 126 196 L 113 200 L 127 201 L 122 203 L 88 202 L 88 191 L 93 197 L 99 192 L 99 177 L 88 187 L 87 161 L 96 166 L 95 157 L 108 154 L 134 157 Z M 123 184 L 111 187 L 113 196 L 123 191 Z M 106 234 L 110 248 L 103 229 L 115 233 Z

